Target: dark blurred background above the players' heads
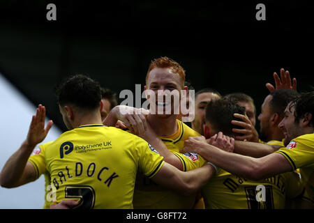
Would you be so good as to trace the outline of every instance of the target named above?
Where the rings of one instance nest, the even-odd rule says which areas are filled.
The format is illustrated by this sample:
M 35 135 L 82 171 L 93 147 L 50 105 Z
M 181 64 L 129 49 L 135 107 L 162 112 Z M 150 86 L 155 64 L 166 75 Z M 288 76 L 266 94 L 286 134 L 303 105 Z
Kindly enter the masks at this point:
M 46 20 L 48 3 L 56 4 L 57 21 Z M 257 3 L 265 4 L 266 21 L 255 19 Z M 251 95 L 258 115 L 265 84 L 280 68 L 297 78 L 299 91 L 311 89 L 312 17 L 310 1 L 1 0 L 0 71 L 45 105 L 61 130 L 54 84 L 62 77 L 88 74 L 119 97 L 144 86 L 159 56 L 179 62 L 195 91 Z

